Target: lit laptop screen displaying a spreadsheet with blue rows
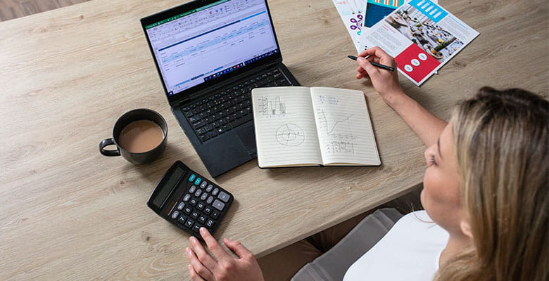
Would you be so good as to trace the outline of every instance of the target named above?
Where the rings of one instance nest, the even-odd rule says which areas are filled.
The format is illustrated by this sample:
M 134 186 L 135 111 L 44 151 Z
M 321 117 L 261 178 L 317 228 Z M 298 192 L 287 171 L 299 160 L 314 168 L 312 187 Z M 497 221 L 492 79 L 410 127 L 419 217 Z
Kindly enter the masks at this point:
M 168 96 L 277 53 L 265 0 L 220 0 L 145 27 Z

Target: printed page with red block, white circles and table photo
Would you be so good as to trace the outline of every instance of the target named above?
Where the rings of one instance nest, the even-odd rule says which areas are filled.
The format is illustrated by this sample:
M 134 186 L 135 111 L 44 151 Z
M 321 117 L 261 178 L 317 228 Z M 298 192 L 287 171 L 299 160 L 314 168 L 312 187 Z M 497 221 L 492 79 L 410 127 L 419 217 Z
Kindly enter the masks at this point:
M 379 46 L 417 86 L 453 58 L 479 32 L 429 0 L 411 0 L 360 36 L 362 50 Z

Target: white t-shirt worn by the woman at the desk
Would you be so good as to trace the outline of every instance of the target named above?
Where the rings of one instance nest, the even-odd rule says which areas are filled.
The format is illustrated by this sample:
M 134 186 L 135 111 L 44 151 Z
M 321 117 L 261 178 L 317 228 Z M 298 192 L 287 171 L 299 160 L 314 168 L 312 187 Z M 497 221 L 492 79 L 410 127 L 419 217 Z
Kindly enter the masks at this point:
M 400 218 L 377 244 L 347 270 L 343 281 L 433 280 L 448 233 L 425 211 Z

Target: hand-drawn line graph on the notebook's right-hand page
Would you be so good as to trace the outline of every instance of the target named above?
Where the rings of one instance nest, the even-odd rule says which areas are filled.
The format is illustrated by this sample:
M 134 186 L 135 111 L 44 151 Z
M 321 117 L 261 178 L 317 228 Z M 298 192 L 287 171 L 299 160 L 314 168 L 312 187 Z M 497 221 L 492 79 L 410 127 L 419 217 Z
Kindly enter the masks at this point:
M 328 119 L 326 112 L 324 112 L 324 108 L 320 107 L 317 110 L 317 116 L 320 129 L 324 129 L 327 136 L 347 140 L 356 139 L 353 135 L 353 124 L 351 124 L 351 118 L 355 116 L 354 114 L 343 115 L 339 113 L 337 116 L 331 116 Z

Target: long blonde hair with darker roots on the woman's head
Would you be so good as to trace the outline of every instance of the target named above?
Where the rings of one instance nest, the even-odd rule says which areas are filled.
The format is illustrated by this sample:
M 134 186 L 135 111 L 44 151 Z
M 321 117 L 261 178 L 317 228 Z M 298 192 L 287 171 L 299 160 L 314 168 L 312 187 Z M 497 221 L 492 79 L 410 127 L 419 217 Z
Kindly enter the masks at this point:
M 484 87 L 452 115 L 470 249 L 435 280 L 549 280 L 549 103 Z

